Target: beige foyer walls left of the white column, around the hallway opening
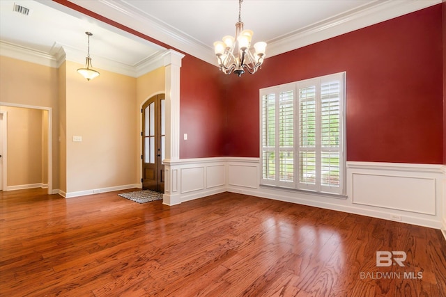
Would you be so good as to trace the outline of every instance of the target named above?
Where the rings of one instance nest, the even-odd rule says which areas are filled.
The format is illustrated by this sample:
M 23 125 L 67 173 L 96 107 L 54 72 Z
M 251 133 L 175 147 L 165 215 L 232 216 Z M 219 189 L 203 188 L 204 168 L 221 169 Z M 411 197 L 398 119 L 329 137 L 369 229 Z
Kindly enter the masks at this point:
M 76 72 L 83 65 L 70 61 L 55 69 L 0 56 L 0 65 L 0 105 L 51 109 L 40 111 L 38 127 L 52 122 L 54 189 L 73 193 L 139 184 L 141 104 L 164 93 L 164 67 L 138 79 L 98 69 L 100 77 L 86 81 Z M 82 142 L 72 136 L 82 136 Z M 45 137 L 43 129 L 40 141 Z M 39 156 L 47 162 L 45 153 Z M 47 182 L 45 168 L 36 172 Z

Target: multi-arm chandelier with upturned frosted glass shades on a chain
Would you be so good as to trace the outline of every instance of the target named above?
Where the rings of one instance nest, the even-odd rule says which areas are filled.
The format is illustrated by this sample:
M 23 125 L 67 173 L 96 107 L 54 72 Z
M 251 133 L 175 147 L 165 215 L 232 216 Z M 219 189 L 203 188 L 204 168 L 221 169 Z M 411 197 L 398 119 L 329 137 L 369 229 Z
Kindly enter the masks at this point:
M 238 0 L 238 22 L 236 22 L 235 38 L 226 35 L 223 41 L 214 42 L 215 56 L 217 56 L 218 65 L 224 74 L 234 72 L 240 77 L 245 71 L 254 74 L 261 68 L 263 59 L 265 58 L 266 42 L 260 41 L 254 44 L 254 55 L 249 47 L 251 46 L 252 35 L 251 30 L 243 29 L 241 17 L 243 0 Z M 237 47 L 236 47 L 237 44 Z M 234 51 L 238 50 L 238 56 L 234 55 Z

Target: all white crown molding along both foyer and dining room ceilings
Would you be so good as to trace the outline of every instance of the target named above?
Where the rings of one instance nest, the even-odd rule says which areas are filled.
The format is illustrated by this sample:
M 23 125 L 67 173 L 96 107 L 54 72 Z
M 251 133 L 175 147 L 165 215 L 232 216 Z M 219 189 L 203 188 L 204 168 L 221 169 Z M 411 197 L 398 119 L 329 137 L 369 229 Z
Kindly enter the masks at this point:
M 141 10 L 134 8 L 128 2 L 117 0 L 72 0 L 72 2 L 95 13 L 100 13 L 104 17 L 113 19 L 115 22 L 128 26 L 136 31 L 149 35 L 151 38 L 171 45 L 207 63 L 217 65 L 214 51 L 210 45 L 203 45 L 199 40 L 171 26 L 167 26 Z M 362 29 L 379 22 L 384 22 L 387 19 L 412 13 L 438 3 L 442 3 L 442 0 L 372 1 L 360 8 L 307 26 L 305 29 L 278 36 L 273 40 L 268 40 L 268 56 L 266 58 L 305 47 L 328 38 L 333 38 L 337 35 Z M 99 69 L 128 75 L 130 77 L 139 77 L 142 74 L 155 70 L 157 67 L 161 67 L 163 65 L 162 53 L 164 52 L 165 50 L 160 47 L 160 51 L 148 56 L 143 61 L 139 61 L 136 65 L 124 65 L 123 63 L 118 63 L 101 56 L 94 56 L 93 63 L 95 67 L 100 66 Z M 0 40 L 0 54 L 2 56 L 17 58 L 49 67 L 59 67 L 65 59 L 81 64 L 85 62 L 84 52 L 59 44 L 54 44 L 51 51 L 46 53 Z

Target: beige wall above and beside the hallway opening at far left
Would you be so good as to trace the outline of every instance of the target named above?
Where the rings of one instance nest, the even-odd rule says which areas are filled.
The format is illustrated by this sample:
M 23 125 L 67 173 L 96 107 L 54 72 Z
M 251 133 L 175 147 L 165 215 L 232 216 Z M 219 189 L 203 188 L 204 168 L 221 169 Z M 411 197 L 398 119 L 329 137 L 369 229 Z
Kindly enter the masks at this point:
M 57 69 L 5 56 L 0 56 L 0 66 L 0 105 L 20 104 L 51 109 L 52 122 L 58 122 Z M 53 125 L 51 134 L 53 188 L 59 188 L 58 130 L 59 127 Z M 8 170 L 12 168 L 11 166 L 8 162 Z M 13 181 L 8 179 L 8 185 L 11 185 L 10 182 Z

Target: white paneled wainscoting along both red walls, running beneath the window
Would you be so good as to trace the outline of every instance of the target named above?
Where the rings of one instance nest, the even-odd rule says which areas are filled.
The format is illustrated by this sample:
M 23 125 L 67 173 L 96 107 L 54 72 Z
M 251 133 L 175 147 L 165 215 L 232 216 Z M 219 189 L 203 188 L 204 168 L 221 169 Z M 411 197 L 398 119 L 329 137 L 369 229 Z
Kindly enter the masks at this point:
M 164 203 L 169 205 L 229 191 L 446 231 L 443 165 L 349 161 L 344 196 L 260 186 L 259 158 L 183 159 L 165 165 L 178 172 L 167 182 L 171 188 Z

